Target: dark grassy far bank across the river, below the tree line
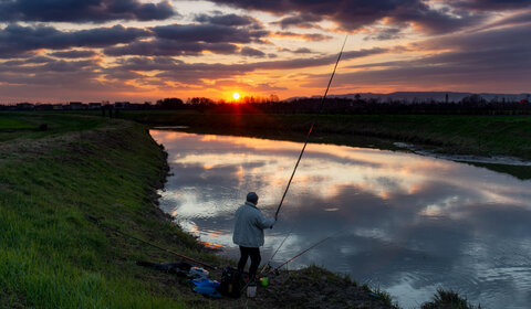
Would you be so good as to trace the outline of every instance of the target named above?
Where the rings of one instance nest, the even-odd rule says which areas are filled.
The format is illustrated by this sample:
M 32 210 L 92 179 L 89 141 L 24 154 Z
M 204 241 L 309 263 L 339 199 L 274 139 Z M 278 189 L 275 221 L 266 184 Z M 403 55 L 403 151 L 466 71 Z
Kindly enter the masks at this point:
M 219 115 L 194 111 L 124 111 L 121 117 L 154 126 L 190 126 L 194 131 L 302 140 L 313 115 Z M 419 143 L 447 153 L 506 154 L 531 159 L 531 117 L 429 115 L 322 115 L 319 141 L 360 146 Z

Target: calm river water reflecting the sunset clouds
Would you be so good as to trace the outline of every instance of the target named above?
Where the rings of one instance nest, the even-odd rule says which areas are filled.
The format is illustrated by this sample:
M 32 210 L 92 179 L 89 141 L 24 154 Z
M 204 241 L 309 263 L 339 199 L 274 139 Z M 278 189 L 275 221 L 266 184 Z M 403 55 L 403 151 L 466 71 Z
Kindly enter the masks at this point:
M 231 242 L 233 212 L 248 191 L 272 216 L 302 145 L 153 130 L 174 175 L 160 206 L 200 239 Z M 266 232 L 274 262 L 335 236 L 289 264 L 316 264 L 418 307 L 438 287 L 482 308 L 530 308 L 531 182 L 410 153 L 309 145 L 282 206 Z

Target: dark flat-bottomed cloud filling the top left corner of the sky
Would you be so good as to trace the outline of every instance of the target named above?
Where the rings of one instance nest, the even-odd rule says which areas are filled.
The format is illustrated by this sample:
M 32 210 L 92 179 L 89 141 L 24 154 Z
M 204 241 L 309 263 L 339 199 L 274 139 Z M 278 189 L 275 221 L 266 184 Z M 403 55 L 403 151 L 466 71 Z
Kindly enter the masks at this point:
M 174 15 L 169 1 L 138 0 L 11 0 L 0 1 L 0 21 L 105 22 L 164 20 Z

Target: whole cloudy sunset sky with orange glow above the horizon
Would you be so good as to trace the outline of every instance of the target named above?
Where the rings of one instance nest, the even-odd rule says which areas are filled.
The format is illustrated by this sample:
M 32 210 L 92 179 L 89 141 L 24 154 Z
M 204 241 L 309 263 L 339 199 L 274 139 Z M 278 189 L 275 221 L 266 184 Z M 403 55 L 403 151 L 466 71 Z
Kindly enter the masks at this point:
M 0 0 L 0 103 L 531 92 L 530 0 Z

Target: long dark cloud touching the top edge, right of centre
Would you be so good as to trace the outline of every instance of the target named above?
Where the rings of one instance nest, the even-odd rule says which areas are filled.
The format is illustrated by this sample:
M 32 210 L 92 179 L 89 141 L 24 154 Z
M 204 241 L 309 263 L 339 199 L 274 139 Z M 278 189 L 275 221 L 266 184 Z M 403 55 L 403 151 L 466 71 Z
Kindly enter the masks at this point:
M 377 21 L 387 18 L 396 23 L 406 22 L 414 24 L 418 30 L 427 33 L 445 33 L 460 29 L 470 23 L 477 23 L 477 19 L 468 18 L 466 11 L 448 11 L 446 9 L 434 9 L 421 0 L 332 0 L 332 1 L 300 1 L 300 0 L 275 0 L 275 1 L 240 1 L 240 0 L 212 0 L 218 4 L 261 10 L 275 14 L 295 12 L 303 18 L 288 18 L 285 25 L 298 24 L 306 20 L 326 19 L 335 21 L 341 28 L 353 31 L 363 26 L 372 25 Z M 462 18 L 466 17 L 466 18 Z M 282 25 L 282 21 L 280 21 Z

